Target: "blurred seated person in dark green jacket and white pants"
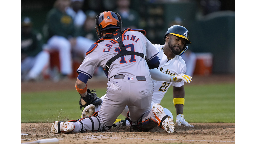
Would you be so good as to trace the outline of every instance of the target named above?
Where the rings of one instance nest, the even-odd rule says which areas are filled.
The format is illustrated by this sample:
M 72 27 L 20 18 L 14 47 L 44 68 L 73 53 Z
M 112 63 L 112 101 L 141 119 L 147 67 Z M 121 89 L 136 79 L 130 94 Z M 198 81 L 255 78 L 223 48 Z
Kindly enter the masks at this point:
M 61 79 L 69 78 L 72 74 L 71 44 L 68 39 L 73 37 L 75 29 L 73 18 L 66 13 L 69 4 L 69 0 L 56 0 L 46 17 L 47 47 L 59 51 Z

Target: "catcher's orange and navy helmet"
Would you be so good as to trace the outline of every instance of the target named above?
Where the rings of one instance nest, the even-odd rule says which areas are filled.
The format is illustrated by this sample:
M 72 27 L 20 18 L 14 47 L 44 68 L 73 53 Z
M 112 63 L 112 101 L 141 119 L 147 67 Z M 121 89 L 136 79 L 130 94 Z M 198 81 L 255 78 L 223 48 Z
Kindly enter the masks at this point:
M 96 16 L 96 34 L 99 38 L 102 37 L 101 31 L 111 28 L 122 29 L 122 20 L 121 16 L 112 11 L 104 11 Z

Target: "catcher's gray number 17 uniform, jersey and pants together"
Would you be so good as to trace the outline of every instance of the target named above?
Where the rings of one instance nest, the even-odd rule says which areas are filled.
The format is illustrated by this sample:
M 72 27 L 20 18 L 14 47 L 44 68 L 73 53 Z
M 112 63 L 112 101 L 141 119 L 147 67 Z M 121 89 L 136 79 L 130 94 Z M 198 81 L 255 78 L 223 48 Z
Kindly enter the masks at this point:
M 141 32 L 127 31 L 118 38 L 123 38 L 123 44 L 128 51 L 144 53 L 147 61 L 157 58 L 158 51 Z M 91 78 L 97 67 L 105 68 L 107 61 L 118 52 L 120 52 L 119 44 L 113 40 L 104 40 L 95 44 L 87 52 L 77 72 Z M 153 83 L 147 61 L 140 56 L 126 55 L 111 64 L 108 71 L 107 94 L 98 113 L 100 130 L 109 129 L 126 105 L 129 107 L 132 122 L 137 122 L 142 116 L 142 121 L 147 118 L 156 120 L 151 110 Z M 124 76 L 123 78 L 115 78 L 115 75 Z M 88 121 L 89 119 L 82 120 L 85 127 L 91 125 Z

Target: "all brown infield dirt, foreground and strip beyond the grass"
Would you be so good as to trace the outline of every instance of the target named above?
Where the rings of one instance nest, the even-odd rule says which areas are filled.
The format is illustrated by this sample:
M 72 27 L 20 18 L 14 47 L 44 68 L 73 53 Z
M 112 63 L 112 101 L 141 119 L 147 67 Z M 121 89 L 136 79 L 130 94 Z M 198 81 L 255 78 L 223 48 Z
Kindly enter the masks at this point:
M 75 79 L 52 82 L 24 82 L 22 92 L 69 90 L 75 88 Z M 234 83 L 234 75 L 194 76 L 191 85 L 213 83 Z M 94 78 L 88 81 L 92 88 L 106 88 L 106 78 Z M 166 133 L 156 127 L 150 132 L 129 131 L 128 127 L 119 127 L 108 132 L 85 132 L 71 134 L 51 133 L 50 123 L 22 123 L 21 142 L 31 142 L 39 139 L 58 138 L 59 144 L 153 144 L 153 143 L 194 143 L 194 144 L 226 144 L 235 142 L 235 123 L 190 123 L 195 128 L 177 126 L 175 132 Z

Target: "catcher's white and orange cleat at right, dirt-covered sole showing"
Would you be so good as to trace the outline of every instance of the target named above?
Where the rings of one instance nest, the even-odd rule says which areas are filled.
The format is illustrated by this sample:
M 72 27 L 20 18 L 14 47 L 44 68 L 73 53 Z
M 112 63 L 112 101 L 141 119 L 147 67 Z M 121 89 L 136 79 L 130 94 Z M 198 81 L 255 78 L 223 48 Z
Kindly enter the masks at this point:
M 154 104 L 152 106 L 152 111 L 156 117 L 156 122 L 158 126 L 164 129 L 168 133 L 174 132 L 174 123 L 173 119 L 166 115 L 164 112 L 164 108 L 160 104 Z

